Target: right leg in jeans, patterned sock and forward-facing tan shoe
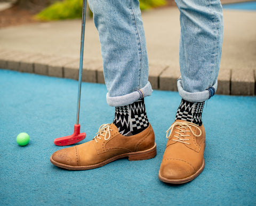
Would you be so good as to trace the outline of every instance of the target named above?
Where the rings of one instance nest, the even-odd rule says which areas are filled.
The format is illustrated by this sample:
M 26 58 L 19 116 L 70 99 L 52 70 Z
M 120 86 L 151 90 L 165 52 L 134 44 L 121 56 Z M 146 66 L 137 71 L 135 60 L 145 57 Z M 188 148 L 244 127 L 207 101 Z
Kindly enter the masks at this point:
M 204 101 L 214 95 L 220 67 L 223 19 L 220 0 L 176 0 L 180 10 L 180 71 L 182 97 L 175 122 L 167 130 L 159 179 L 186 183 L 204 169 Z

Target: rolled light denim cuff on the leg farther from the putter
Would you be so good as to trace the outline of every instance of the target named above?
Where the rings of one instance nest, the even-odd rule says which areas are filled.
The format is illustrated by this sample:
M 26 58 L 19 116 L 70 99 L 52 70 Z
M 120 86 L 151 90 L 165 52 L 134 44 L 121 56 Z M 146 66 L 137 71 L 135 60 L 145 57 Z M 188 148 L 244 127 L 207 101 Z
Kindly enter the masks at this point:
M 183 100 L 186 100 L 188 102 L 204 102 L 206 100 L 209 100 L 209 98 L 211 98 L 215 94 L 218 86 L 218 81 L 216 80 L 216 83 L 213 86 L 205 89 L 202 92 L 186 92 L 182 87 L 181 78 L 177 80 L 177 86 L 179 94 L 181 98 L 183 98 Z

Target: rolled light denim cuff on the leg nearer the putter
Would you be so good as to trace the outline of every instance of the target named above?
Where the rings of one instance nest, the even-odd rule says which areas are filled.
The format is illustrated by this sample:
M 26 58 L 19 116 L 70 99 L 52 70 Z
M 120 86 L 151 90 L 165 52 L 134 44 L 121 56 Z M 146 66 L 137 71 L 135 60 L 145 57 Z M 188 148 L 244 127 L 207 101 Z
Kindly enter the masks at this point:
M 130 94 L 123 96 L 109 96 L 109 93 L 107 93 L 107 103 L 109 106 L 125 106 L 132 104 L 143 97 L 150 96 L 152 92 L 151 84 L 148 81 L 145 87 L 135 90 Z

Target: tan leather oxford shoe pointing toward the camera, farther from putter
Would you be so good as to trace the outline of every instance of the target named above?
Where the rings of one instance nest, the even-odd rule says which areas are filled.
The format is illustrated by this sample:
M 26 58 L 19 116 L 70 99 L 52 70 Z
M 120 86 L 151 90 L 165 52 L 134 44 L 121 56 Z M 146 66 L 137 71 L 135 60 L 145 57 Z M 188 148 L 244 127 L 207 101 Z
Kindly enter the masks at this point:
M 170 135 L 169 135 L 170 133 Z M 168 138 L 158 178 L 182 184 L 195 179 L 204 169 L 204 126 L 176 120 L 166 131 Z

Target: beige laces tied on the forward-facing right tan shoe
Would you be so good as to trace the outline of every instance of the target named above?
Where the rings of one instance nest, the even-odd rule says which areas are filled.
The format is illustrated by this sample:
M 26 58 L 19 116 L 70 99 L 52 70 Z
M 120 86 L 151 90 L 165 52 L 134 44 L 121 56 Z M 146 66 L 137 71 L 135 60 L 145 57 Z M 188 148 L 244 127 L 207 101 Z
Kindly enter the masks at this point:
M 184 143 L 184 144 L 190 144 L 188 142 L 185 142 L 185 141 L 189 141 L 189 139 L 187 137 L 190 136 L 190 135 L 186 135 L 186 132 L 191 131 L 191 133 L 193 135 L 195 135 L 196 137 L 199 137 L 202 134 L 201 129 L 199 129 L 200 134 L 196 135 L 194 133 L 194 131 L 191 129 L 192 126 L 196 127 L 197 129 L 199 129 L 199 127 L 197 127 L 196 125 L 194 125 L 192 123 L 189 123 L 189 122 L 179 122 L 179 121 L 174 122 L 171 125 L 171 127 L 166 131 L 166 138 L 170 138 L 173 129 L 179 129 L 180 131 L 175 131 L 175 133 L 178 134 L 179 136 L 174 135 L 174 137 L 176 137 L 177 139 L 172 139 L 172 141 L 181 142 L 181 143 Z M 187 128 L 189 128 L 189 130 L 187 130 Z M 183 133 L 183 134 L 181 134 L 181 133 Z

